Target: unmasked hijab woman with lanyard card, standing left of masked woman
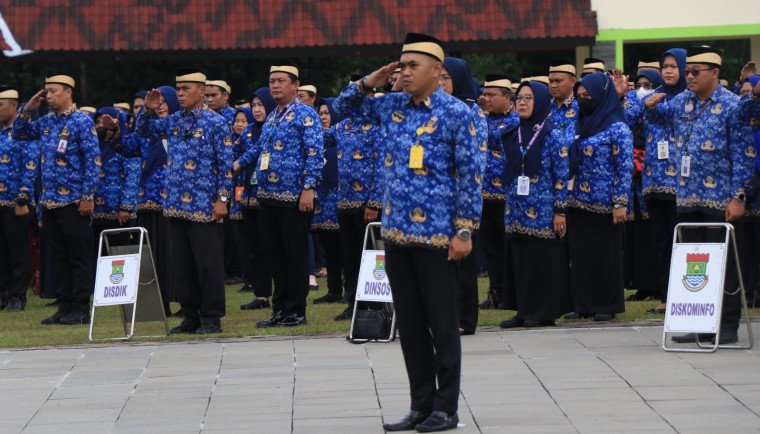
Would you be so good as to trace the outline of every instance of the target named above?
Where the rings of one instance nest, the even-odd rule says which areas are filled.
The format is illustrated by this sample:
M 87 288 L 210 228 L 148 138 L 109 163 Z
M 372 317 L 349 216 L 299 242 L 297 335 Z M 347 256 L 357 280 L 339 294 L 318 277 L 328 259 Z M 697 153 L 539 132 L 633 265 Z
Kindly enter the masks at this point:
M 508 260 L 514 270 L 517 315 L 501 327 L 553 326 L 570 309 L 570 274 L 565 234 L 567 224 L 567 143 L 562 130 L 548 117 L 549 90 L 525 81 L 515 97 L 520 124 L 501 136 L 506 162 L 502 179 L 507 186 L 504 226 L 509 238 Z

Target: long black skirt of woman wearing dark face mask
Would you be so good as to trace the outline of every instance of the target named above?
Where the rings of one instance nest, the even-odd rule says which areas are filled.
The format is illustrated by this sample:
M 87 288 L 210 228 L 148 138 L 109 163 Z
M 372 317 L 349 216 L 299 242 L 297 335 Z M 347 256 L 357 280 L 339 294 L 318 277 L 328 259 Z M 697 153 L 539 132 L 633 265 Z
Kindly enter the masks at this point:
M 567 236 L 573 310 L 582 315 L 625 312 L 623 225 L 614 225 L 612 214 L 571 208 Z

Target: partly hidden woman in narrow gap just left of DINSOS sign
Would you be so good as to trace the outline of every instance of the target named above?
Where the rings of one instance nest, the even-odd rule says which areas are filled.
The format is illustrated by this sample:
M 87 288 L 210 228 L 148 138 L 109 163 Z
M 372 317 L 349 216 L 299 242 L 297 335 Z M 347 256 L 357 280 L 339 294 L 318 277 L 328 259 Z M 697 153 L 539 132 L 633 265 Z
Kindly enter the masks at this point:
M 343 249 L 338 223 L 338 147 L 335 142 L 337 132 L 334 127 L 340 119 L 338 113 L 332 108 L 333 101 L 335 98 L 320 98 L 316 104 L 324 131 L 325 165 L 322 167 L 322 182 L 317 186 L 319 203 L 314 207 L 311 231 L 319 235 L 319 241 L 325 250 L 327 267 L 325 297 L 340 300 L 343 297 Z M 353 306 L 350 307 L 353 309 Z

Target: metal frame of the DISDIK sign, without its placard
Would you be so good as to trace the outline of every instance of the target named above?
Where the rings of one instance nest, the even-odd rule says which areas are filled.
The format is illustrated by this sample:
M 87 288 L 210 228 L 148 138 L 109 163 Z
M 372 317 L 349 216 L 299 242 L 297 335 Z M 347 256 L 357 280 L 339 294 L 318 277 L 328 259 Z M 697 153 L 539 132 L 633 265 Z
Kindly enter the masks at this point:
M 139 243 L 129 245 L 112 245 L 109 236 L 117 234 L 139 234 Z M 103 245 L 106 248 L 106 256 L 101 256 Z M 158 286 L 156 266 L 153 262 L 153 252 L 150 249 L 148 231 L 143 227 L 106 229 L 100 234 L 98 242 L 98 260 L 114 255 L 137 254 L 139 265 L 137 271 L 137 288 L 135 289 L 134 303 L 118 304 L 121 323 L 124 327 L 124 336 L 114 338 L 93 339 L 92 330 L 95 324 L 95 303 L 92 305 L 90 315 L 90 341 L 129 340 L 135 333 L 136 322 L 163 321 L 166 333 L 163 335 L 136 336 L 141 338 L 158 338 L 169 335 L 169 322 L 164 312 L 164 303 L 161 298 L 161 289 Z

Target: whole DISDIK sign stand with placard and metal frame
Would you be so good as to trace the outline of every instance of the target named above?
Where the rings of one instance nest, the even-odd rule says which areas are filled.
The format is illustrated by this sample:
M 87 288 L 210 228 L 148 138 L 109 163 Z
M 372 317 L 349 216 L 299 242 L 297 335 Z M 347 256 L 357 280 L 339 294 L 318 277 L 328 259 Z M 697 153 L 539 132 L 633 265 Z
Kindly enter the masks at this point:
M 111 242 L 113 236 L 129 234 L 139 235 L 139 243 L 114 245 Z M 106 256 L 101 256 L 104 245 Z M 136 322 L 162 321 L 166 330 L 163 335 L 138 337 L 155 338 L 169 334 L 169 323 L 166 320 L 156 267 L 148 242 L 148 231 L 143 227 L 107 229 L 100 235 L 95 293 L 90 316 L 90 341 L 93 341 L 95 308 L 114 305 L 119 306 L 125 336 L 94 340 L 131 339 L 135 333 Z

